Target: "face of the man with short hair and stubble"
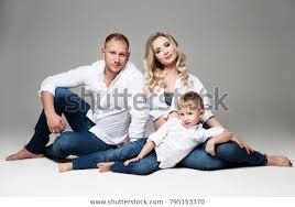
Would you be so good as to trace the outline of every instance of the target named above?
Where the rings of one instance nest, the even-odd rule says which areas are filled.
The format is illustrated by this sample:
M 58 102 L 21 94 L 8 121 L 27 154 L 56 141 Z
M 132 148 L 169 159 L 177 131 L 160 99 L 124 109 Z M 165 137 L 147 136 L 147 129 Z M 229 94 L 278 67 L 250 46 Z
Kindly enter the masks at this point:
M 125 42 L 112 39 L 106 44 L 101 52 L 106 63 L 106 70 L 119 74 L 125 66 L 129 57 Z

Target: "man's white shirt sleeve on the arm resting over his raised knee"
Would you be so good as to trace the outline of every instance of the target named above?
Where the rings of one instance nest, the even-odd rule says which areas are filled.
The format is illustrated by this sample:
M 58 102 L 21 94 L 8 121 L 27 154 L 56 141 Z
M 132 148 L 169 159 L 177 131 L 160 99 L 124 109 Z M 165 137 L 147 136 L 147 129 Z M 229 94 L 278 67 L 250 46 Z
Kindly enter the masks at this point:
M 80 66 L 62 74 L 48 76 L 42 81 L 39 96 L 41 96 L 42 91 L 48 91 L 55 96 L 55 89 L 57 87 L 74 88 L 84 86 L 91 68 L 91 65 Z

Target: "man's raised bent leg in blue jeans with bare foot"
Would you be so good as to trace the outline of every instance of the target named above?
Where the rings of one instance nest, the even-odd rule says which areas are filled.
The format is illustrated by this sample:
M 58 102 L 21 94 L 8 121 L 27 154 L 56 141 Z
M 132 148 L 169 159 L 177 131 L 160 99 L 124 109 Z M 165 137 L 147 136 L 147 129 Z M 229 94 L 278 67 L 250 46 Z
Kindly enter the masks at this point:
M 56 88 L 54 97 L 54 108 L 57 115 L 65 115 L 69 126 L 74 131 L 88 131 L 94 123 L 86 117 L 90 106 L 76 94 L 66 88 Z M 50 130 L 46 116 L 42 111 L 35 126 L 35 133 L 24 149 L 17 154 L 7 157 L 8 161 L 40 157 L 45 153 L 45 146 L 50 140 Z

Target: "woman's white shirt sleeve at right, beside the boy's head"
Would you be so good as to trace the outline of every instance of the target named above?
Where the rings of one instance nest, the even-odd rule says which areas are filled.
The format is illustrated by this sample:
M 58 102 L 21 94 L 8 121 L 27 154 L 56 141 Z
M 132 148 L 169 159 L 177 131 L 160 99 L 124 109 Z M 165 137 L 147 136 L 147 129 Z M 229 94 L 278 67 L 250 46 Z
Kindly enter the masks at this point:
M 190 75 L 192 79 L 193 79 L 193 84 L 194 84 L 194 90 L 196 92 L 198 92 L 198 95 L 203 98 L 203 102 L 204 102 L 204 109 L 205 109 L 205 113 L 201 118 L 201 121 L 205 123 L 206 121 L 208 121 L 208 119 L 210 119 L 211 117 L 214 117 L 211 109 L 211 105 L 209 101 L 209 94 L 206 90 L 206 88 L 204 87 L 203 83 L 195 76 Z

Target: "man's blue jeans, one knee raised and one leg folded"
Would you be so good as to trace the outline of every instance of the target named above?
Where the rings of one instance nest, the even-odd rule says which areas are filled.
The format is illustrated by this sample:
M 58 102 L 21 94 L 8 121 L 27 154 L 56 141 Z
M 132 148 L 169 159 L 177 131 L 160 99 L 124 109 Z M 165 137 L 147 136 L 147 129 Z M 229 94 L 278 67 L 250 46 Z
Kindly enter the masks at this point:
M 33 134 L 25 149 L 35 154 L 45 154 L 52 159 L 65 159 L 68 155 L 84 155 L 92 152 L 116 148 L 98 139 L 88 130 L 95 123 L 86 117 L 90 106 L 66 88 L 56 88 L 54 109 L 57 115 L 64 115 L 73 131 L 62 132 L 53 144 L 46 146 L 50 141 L 50 130 L 44 110 L 35 126 Z

